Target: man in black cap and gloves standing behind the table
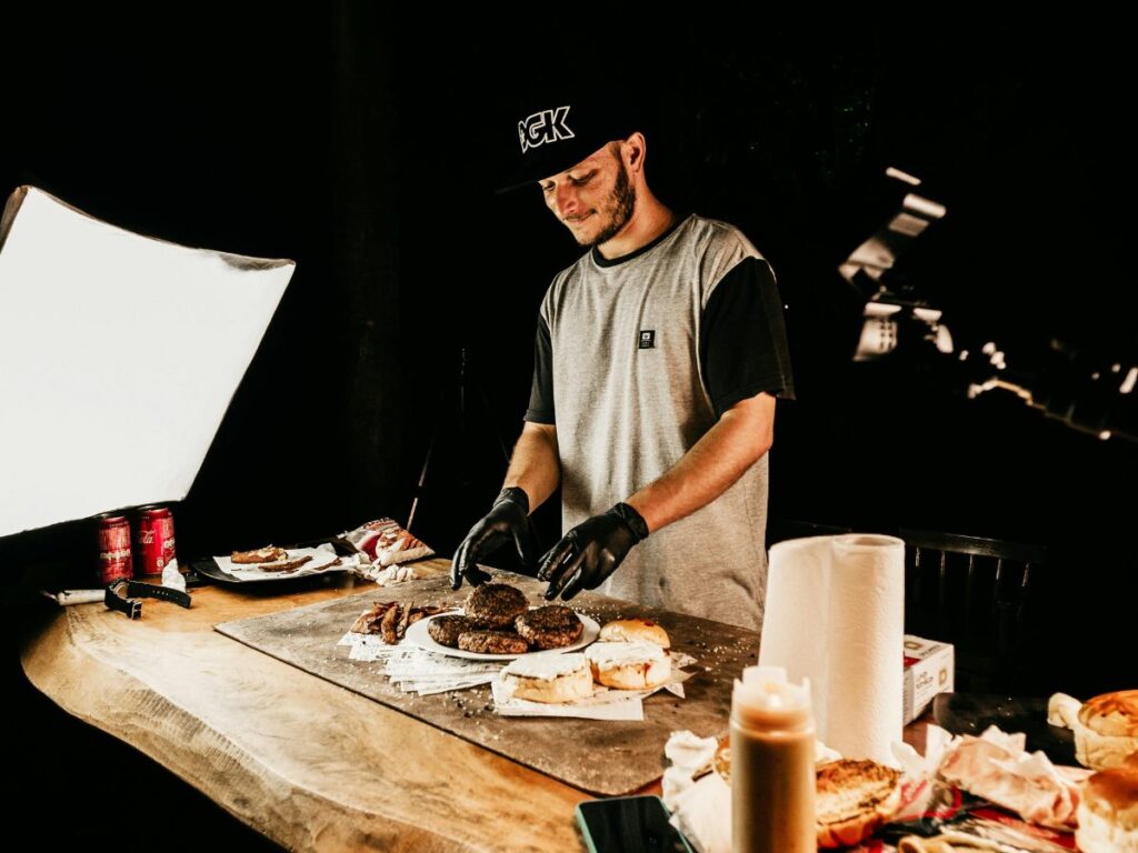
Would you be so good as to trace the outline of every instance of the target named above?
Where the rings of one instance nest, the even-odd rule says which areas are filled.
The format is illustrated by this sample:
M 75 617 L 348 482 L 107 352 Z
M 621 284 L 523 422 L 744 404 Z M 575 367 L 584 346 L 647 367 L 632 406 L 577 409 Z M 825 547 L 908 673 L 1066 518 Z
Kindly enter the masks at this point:
M 568 532 L 545 597 L 582 589 L 759 629 L 775 396 L 793 397 L 770 267 L 735 227 L 649 189 L 648 143 L 603 103 L 519 117 L 517 183 L 588 251 L 542 303 L 534 383 L 505 488 L 459 546 L 452 586 L 561 486 Z M 506 188 L 513 189 L 513 187 Z

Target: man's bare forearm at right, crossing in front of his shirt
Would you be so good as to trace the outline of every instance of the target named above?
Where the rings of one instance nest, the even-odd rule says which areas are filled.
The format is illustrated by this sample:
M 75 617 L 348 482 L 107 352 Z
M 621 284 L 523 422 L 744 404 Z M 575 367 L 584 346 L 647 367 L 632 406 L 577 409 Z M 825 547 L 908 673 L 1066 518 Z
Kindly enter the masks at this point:
M 710 504 L 770 449 L 774 414 L 775 398 L 767 394 L 739 403 L 679 462 L 626 503 L 650 531 Z

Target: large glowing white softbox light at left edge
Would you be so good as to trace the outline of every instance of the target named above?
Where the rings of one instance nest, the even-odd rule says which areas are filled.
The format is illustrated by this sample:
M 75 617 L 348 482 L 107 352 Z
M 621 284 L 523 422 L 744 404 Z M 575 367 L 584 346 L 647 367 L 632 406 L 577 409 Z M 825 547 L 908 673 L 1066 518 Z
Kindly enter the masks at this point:
M 0 537 L 184 498 L 295 266 L 17 189 L 0 220 Z

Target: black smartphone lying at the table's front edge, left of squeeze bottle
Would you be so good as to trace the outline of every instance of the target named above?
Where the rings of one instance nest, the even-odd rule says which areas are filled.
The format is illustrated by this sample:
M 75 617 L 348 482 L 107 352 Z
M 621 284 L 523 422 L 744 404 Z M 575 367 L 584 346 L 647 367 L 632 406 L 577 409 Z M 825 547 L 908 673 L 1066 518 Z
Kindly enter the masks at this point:
M 577 823 L 589 853 L 693 853 L 658 796 L 586 800 Z

